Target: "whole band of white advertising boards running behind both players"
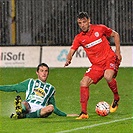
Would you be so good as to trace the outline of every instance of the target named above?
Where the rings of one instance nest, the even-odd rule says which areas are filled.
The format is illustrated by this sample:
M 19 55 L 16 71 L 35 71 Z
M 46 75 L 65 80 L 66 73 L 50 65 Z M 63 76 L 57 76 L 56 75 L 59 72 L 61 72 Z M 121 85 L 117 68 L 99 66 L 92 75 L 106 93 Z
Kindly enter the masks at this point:
M 112 46 L 115 49 L 114 46 Z M 50 67 L 64 67 L 70 46 L 8 46 L 0 47 L 0 67 L 36 67 L 45 62 Z M 120 67 L 133 67 L 133 46 L 122 46 L 123 56 Z M 89 67 L 82 47 L 80 47 L 68 67 Z

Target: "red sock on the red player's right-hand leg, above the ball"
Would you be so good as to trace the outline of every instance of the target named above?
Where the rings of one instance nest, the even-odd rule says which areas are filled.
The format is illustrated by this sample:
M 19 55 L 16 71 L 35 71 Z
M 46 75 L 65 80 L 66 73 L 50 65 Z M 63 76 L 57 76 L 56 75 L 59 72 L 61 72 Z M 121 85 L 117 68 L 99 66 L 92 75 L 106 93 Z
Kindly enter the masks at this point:
M 110 82 L 108 82 L 108 86 L 114 94 L 114 99 L 119 100 L 119 94 L 117 89 L 117 81 L 113 78 Z

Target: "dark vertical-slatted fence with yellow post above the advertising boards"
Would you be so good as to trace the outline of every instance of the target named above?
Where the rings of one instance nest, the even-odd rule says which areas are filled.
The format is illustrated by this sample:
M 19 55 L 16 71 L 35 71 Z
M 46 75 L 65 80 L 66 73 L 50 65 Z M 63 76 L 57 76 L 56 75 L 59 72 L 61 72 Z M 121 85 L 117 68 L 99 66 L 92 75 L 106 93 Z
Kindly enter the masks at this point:
M 133 0 L 0 0 L 0 45 L 69 46 L 80 11 L 133 45 Z

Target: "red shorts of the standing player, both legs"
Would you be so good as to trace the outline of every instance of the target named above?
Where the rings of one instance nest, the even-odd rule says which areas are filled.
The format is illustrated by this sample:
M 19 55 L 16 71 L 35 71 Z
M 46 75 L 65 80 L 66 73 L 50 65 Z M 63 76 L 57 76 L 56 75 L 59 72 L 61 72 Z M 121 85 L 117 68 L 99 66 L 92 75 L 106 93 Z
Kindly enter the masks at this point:
M 92 65 L 90 68 L 88 68 L 84 76 L 90 77 L 93 80 L 93 83 L 96 84 L 99 80 L 103 78 L 104 71 L 107 69 L 114 70 L 114 77 L 116 77 L 119 65 L 120 61 L 117 56 L 110 56 L 100 64 Z

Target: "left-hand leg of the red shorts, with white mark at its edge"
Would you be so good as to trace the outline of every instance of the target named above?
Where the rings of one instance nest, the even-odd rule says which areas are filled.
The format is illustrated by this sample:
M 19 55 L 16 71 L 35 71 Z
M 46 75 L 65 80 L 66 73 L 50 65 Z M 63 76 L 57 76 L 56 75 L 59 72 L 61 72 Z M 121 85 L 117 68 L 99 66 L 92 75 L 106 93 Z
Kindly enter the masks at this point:
M 95 65 L 91 66 L 84 74 L 84 76 L 88 76 L 94 84 L 101 80 L 103 78 L 103 75 L 104 70 L 101 67 Z

